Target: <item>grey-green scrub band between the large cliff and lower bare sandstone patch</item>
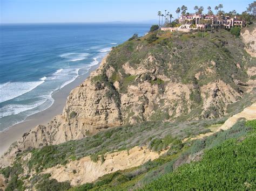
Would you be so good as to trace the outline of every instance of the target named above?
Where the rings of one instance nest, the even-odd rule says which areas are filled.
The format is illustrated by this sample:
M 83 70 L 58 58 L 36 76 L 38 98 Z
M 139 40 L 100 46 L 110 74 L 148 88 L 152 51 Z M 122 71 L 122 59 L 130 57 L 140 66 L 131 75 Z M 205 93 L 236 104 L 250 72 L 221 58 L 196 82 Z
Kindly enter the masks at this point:
M 89 155 L 92 161 L 97 162 L 99 155 L 129 150 L 134 146 L 149 145 L 149 148 L 159 151 L 172 142 L 179 142 L 188 136 L 209 132 L 208 126 L 215 123 L 222 123 L 222 121 L 145 122 L 113 128 L 80 140 L 33 149 L 29 151 L 32 156 L 28 161 L 28 167 L 40 172 L 44 168 L 58 164 L 65 165 L 70 160 L 79 160 Z M 157 143 L 161 144 L 157 145 Z

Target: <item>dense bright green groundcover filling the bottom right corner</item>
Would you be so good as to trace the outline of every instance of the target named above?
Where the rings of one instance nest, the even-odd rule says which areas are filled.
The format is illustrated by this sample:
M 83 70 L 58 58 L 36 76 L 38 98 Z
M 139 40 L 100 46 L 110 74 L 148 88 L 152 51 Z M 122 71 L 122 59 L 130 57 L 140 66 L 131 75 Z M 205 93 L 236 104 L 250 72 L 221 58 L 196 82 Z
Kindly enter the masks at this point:
M 255 128 L 246 137 L 231 138 L 205 151 L 199 162 L 183 165 L 145 186 L 145 190 L 161 189 L 234 189 L 254 190 L 255 185 Z

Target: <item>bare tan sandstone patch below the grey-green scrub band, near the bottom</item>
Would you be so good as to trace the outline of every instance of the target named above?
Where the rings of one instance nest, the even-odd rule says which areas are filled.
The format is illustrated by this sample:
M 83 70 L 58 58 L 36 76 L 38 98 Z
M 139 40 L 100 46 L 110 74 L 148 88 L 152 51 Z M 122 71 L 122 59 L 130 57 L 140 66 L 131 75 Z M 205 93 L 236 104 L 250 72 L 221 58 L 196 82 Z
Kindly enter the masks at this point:
M 71 161 L 65 166 L 57 165 L 46 169 L 43 174 L 51 174 L 52 179 L 58 182 L 70 181 L 71 185 L 82 185 L 93 182 L 100 176 L 113 173 L 119 170 L 129 169 L 154 160 L 165 153 L 153 152 L 147 147 L 134 147 L 129 151 L 120 151 L 104 155 L 104 161 L 93 162 L 90 157 Z

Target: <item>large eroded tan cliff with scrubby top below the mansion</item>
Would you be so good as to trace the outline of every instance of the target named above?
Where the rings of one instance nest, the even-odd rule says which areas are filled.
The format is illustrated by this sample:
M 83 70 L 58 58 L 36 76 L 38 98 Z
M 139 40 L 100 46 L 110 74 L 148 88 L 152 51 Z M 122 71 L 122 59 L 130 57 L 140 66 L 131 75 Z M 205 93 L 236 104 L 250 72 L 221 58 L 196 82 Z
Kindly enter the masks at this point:
M 25 133 L 2 157 L 2 166 L 10 165 L 18 152 L 127 123 L 227 115 L 228 105 L 255 87 L 250 79 L 255 62 L 243 55 L 244 45 L 233 37 L 214 43 L 185 37 L 171 36 L 154 45 L 143 37 L 113 48 L 100 67 L 71 91 L 63 114 Z M 236 46 L 240 48 L 234 51 Z

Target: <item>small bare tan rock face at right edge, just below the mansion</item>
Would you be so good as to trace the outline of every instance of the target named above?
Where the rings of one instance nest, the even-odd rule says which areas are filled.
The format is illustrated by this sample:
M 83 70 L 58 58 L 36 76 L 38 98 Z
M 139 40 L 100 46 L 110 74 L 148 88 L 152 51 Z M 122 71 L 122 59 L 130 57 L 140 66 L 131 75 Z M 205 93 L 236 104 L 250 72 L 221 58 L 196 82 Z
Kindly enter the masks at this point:
M 245 49 L 253 57 L 256 57 L 256 29 L 250 27 L 250 29 L 243 29 L 241 32 L 242 41 L 245 43 Z

